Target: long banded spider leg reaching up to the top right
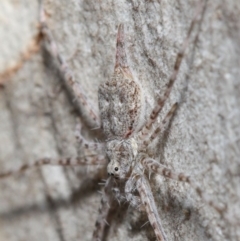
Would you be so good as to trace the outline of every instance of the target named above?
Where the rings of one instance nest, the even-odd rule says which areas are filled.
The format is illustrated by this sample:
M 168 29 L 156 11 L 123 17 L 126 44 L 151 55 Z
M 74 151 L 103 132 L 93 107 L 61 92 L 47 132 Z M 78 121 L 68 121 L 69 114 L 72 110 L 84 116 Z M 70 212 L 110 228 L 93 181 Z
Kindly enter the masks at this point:
M 194 25 L 198 22 L 198 18 L 202 14 L 203 9 L 204 9 L 203 2 L 200 2 L 199 5 L 197 6 L 195 16 L 194 16 L 194 18 L 193 18 L 193 20 L 191 22 L 190 28 L 188 30 L 187 37 L 186 37 L 186 39 L 183 42 L 182 49 L 177 54 L 177 58 L 176 58 L 176 61 L 175 61 L 175 64 L 174 64 L 174 69 L 173 69 L 173 72 L 172 72 L 172 74 L 170 76 L 170 80 L 169 80 L 168 85 L 167 85 L 167 90 L 165 91 L 163 97 L 161 97 L 161 98 L 159 98 L 157 100 L 157 105 L 153 109 L 153 111 L 152 111 L 152 113 L 151 113 L 147 123 L 143 126 L 143 128 L 139 132 L 139 136 L 138 137 L 140 139 L 144 139 L 144 137 L 146 135 L 148 135 L 149 131 L 151 130 L 151 128 L 153 126 L 153 123 L 156 121 L 158 114 L 162 110 L 162 108 L 164 106 L 164 103 L 165 103 L 166 99 L 168 98 L 168 96 L 169 96 L 169 94 L 170 94 L 170 92 L 172 90 L 173 84 L 174 84 L 174 82 L 177 79 L 177 74 L 179 72 L 179 69 L 180 69 L 180 66 L 181 66 L 184 54 L 186 52 L 186 48 L 187 48 L 188 43 L 189 43 L 191 32 L 192 32 L 192 30 L 194 28 Z

